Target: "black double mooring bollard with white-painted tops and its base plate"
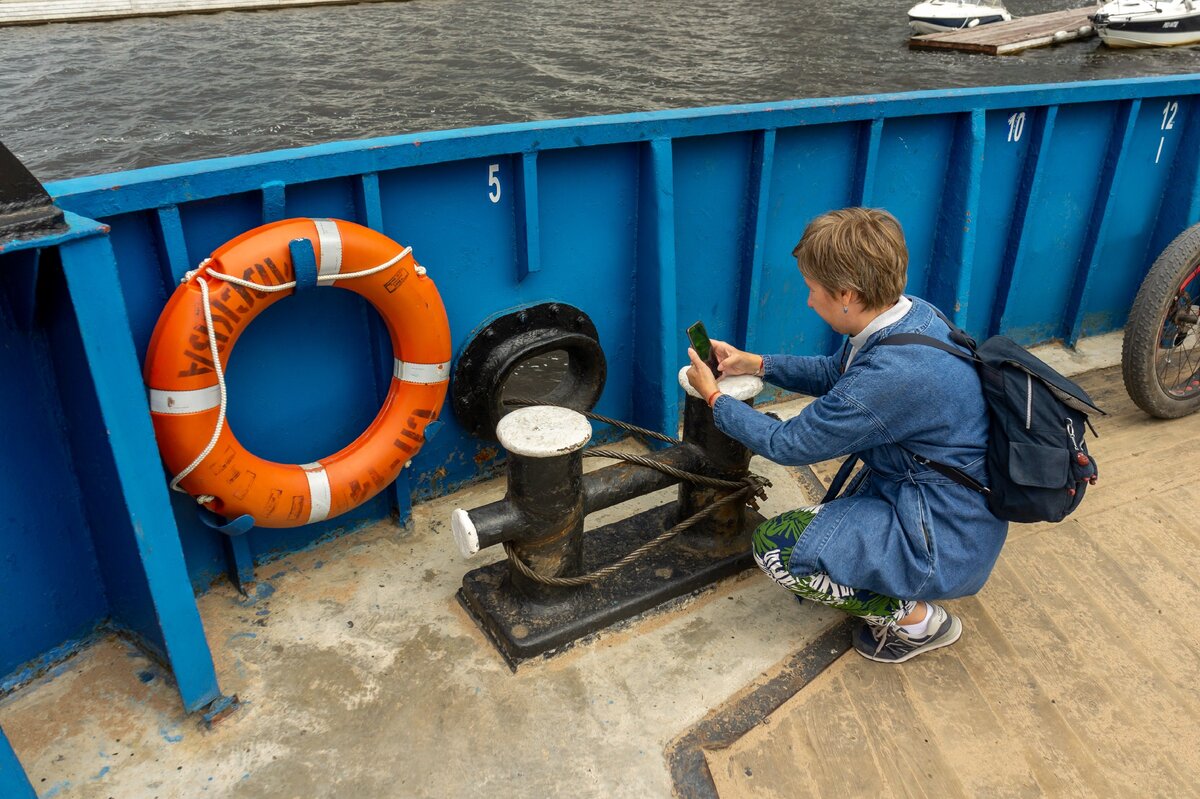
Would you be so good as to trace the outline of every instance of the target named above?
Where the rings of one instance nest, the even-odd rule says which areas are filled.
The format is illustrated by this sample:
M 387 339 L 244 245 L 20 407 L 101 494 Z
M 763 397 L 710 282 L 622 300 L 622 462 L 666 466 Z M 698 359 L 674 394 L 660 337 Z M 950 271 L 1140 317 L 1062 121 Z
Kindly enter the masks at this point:
M 757 378 L 721 382 L 725 392 L 743 402 L 761 388 Z M 744 477 L 750 453 L 716 429 L 708 405 L 690 397 L 684 416 L 684 443 L 648 457 L 683 471 Z M 508 542 L 522 563 L 547 577 L 595 572 L 736 491 L 682 483 L 677 501 L 612 522 L 584 537 L 586 513 L 668 487 L 679 479 L 630 463 L 582 475 L 581 449 L 592 428 L 581 414 L 565 408 L 514 411 L 500 420 L 496 433 L 509 453 L 508 493 L 470 511 L 455 510 L 455 541 L 463 557 Z M 464 575 L 458 599 L 515 668 L 528 657 L 557 651 L 616 621 L 751 567 L 749 536 L 761 521 L 743 503 L 731 503 L 718 509 L 715 519 L 701 521 L 647 549 L 634 563 L 583 585 L 545 585 L 522 575 L 508 559 L 498 560 Z

